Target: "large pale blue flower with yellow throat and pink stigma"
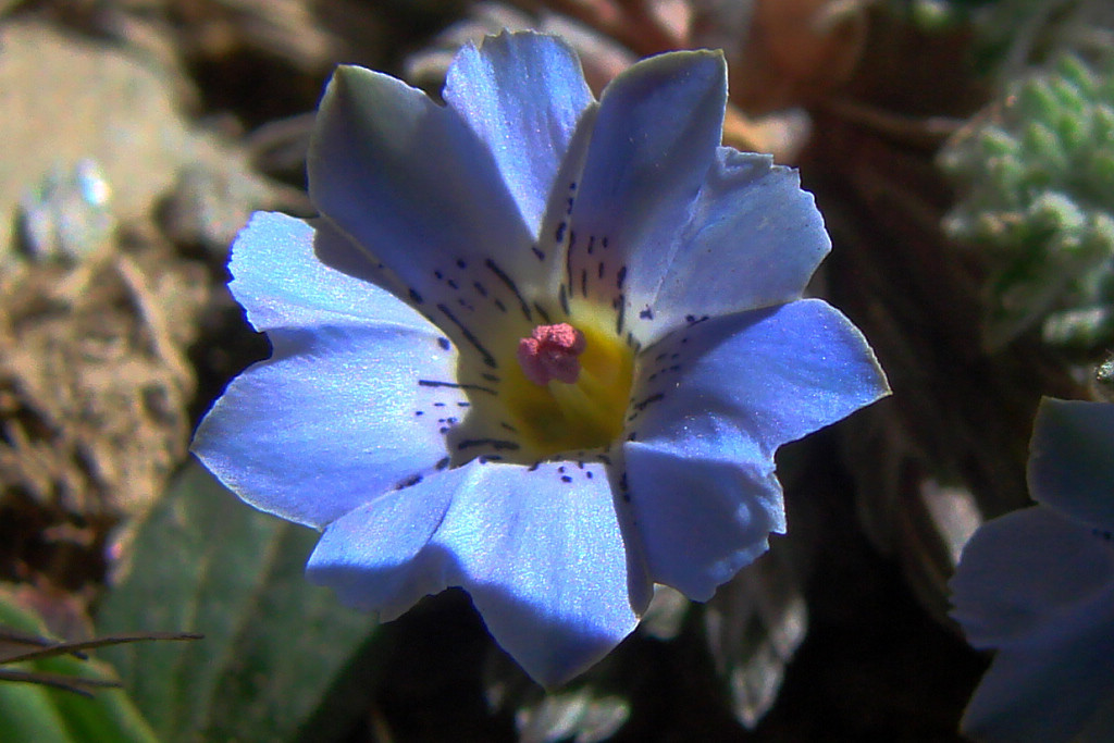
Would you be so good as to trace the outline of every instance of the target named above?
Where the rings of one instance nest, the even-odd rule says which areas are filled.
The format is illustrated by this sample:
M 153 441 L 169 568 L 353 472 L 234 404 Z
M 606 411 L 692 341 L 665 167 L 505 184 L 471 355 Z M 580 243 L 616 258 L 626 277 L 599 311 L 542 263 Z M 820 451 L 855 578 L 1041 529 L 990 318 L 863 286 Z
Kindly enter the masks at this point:
M 504 33 L 443 96 L 338 70 L 321 217 L 256 214 L 233 247 L 273 355 L 193 446 L 323 530 L 311 580 L 383 619 L 461 586 L 554 686 L 654 583 L 706 600 L 761 555 L 785 529 L 778 447 L 888 388 L 858 330 L 801 299 L 830 242 L 795 172 L 720 146 L 722 55 L 651 58 L 597 102 L 564 42 Z M 576 349 L 524 351 L 561 329 Z

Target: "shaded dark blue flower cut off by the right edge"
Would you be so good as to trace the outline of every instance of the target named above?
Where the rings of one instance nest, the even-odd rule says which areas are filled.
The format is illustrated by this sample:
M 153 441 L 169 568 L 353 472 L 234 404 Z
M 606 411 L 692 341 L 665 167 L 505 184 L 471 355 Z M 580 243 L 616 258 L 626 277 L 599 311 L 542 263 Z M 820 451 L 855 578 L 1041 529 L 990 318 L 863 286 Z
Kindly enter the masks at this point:
M 951 579 L 968 642 L 997 648 L 964 715 L 987 741 L 1114 740 L 1114 404 L 1046 398 L 1037 506 L 980 527 Z

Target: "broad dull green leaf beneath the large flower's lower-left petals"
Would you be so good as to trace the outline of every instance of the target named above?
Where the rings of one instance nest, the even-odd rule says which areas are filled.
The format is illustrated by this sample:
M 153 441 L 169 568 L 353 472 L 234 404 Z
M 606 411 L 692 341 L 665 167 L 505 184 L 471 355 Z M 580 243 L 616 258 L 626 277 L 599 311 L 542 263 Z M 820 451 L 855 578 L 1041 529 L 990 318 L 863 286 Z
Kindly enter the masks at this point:
M 245 506 L 196 462 L 136 526 L 98 630 L 205 635 L 104 653 L 160 740 L 293 740 L 353 658 L 377 664 L 373 618 L 305 580 L 316 538 Z

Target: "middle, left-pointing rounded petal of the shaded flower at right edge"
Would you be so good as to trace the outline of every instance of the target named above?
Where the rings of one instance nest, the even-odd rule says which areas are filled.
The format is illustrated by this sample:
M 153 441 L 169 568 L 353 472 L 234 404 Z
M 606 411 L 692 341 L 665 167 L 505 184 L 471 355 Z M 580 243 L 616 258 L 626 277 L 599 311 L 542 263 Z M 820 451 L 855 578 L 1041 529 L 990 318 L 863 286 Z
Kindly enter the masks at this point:
M 1114 548 L 1051 508 L 1025 508 L 979 527 L 949 585 L 951 616 L 971 645 L 1039 645 L 1114 596 Z

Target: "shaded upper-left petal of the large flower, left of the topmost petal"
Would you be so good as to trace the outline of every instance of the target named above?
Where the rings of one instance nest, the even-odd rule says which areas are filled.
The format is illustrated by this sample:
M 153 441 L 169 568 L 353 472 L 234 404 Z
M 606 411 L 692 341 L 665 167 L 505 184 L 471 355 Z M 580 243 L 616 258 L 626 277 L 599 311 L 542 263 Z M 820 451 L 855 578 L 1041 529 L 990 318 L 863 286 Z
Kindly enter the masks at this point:
M 317 115 L 309 177 L 322 214 L 461 348 L 508 312 L 528 332 L 525 297 L 548 275 L 492 154 L 456 110 L 387 75 L 341 67 Z

